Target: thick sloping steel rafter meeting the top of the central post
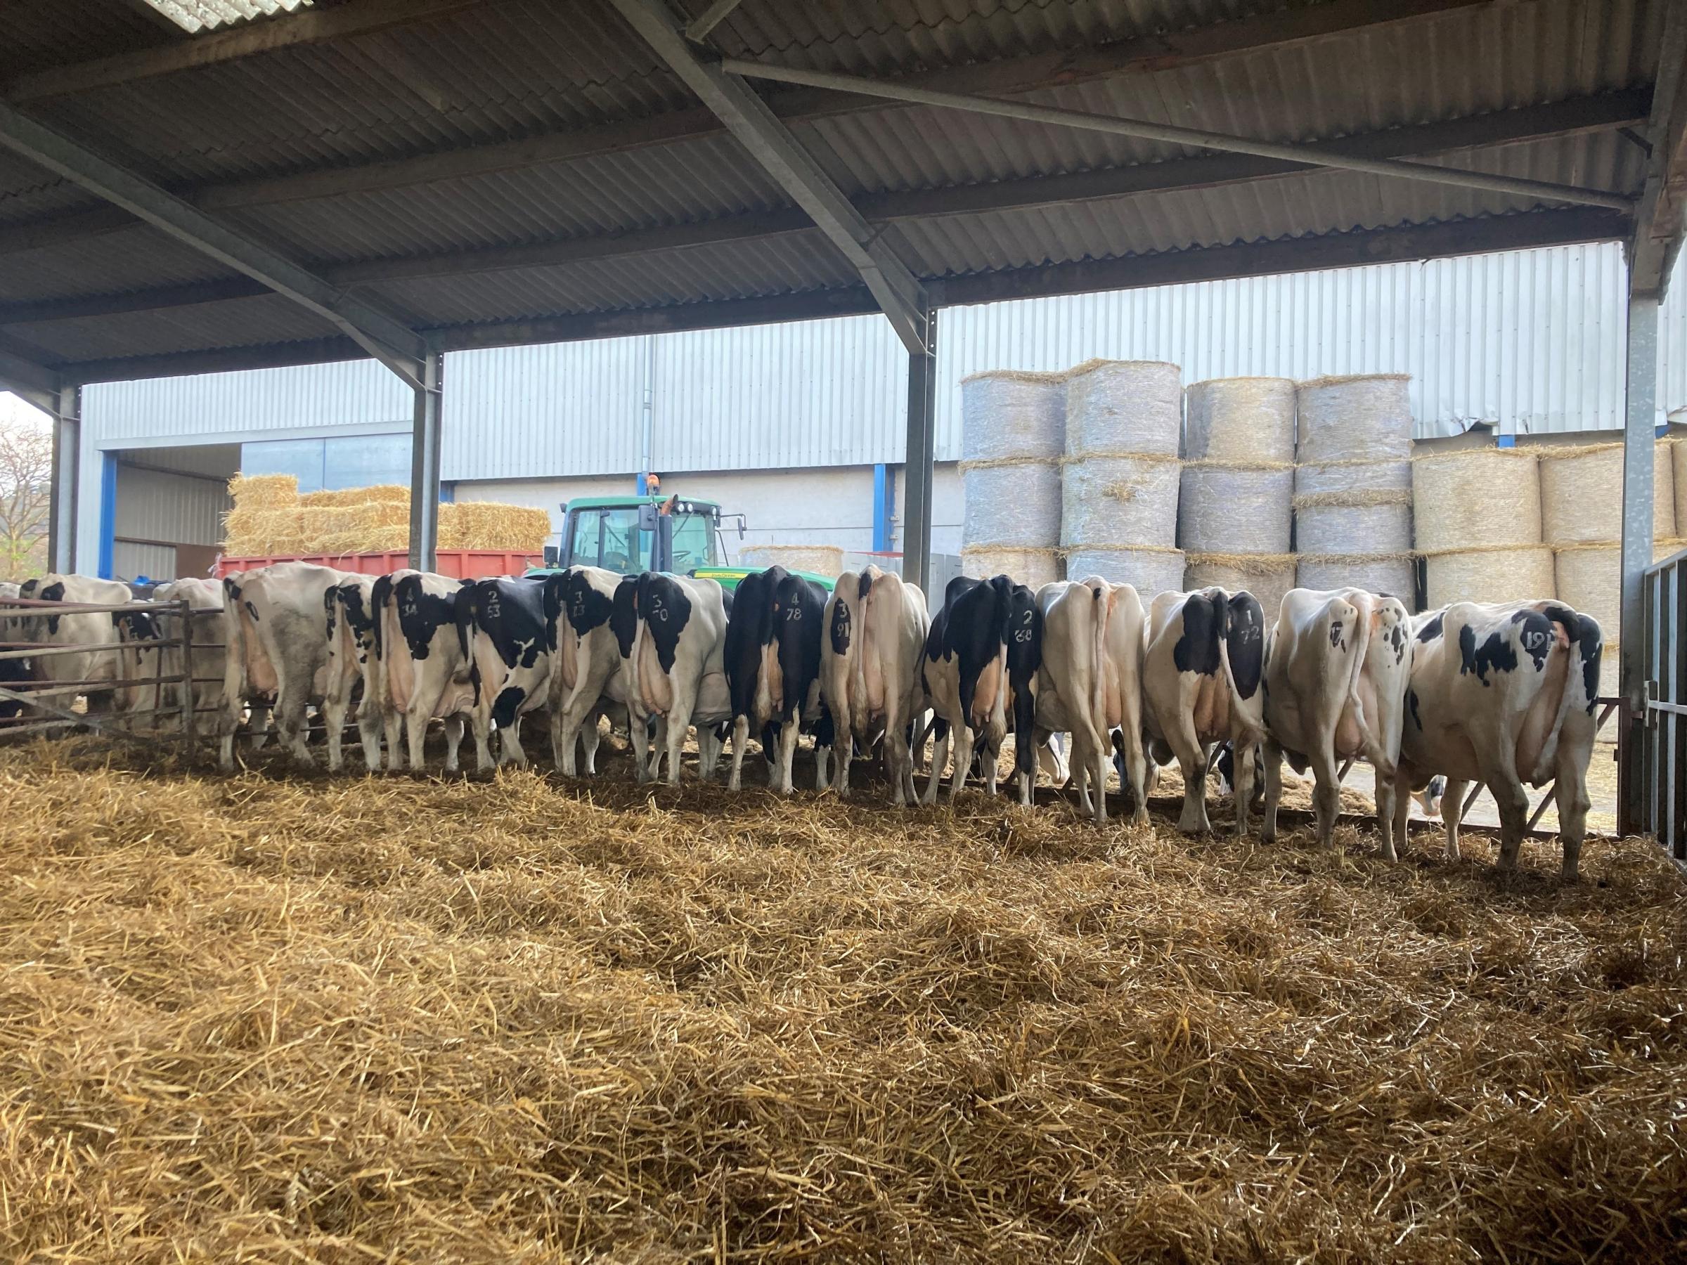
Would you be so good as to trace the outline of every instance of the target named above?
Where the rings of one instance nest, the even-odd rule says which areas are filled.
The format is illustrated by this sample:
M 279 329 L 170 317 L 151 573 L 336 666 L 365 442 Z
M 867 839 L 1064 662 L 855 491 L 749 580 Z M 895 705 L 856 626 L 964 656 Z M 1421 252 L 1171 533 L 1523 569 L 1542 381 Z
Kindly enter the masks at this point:
M 697 56 L 663 0 L 611 3 L 860 273 L 903 344 L 909 351 L 924 351 L 931 305 L 919 282 L 784 123 L 749 84 Z

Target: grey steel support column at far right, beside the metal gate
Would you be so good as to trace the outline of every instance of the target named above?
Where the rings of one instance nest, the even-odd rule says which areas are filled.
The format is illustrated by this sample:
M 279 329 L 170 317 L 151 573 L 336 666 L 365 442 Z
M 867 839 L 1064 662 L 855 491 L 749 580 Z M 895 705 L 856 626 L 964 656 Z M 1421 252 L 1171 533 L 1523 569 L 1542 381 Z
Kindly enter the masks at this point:
M 1641 580 L 1652 565 L 1653 449 L 1658 390 L 1658 295 L 1628 295 L 1628 380 L 1623 422 L 1623 629 L 1618 692 L 1623 697 L 1618 764 L 1618 830 L 1645 830 L 1641 727 L 1647 724 L 1647 665 Z M 1616 629 L 1606 629 L 1606 638 Z

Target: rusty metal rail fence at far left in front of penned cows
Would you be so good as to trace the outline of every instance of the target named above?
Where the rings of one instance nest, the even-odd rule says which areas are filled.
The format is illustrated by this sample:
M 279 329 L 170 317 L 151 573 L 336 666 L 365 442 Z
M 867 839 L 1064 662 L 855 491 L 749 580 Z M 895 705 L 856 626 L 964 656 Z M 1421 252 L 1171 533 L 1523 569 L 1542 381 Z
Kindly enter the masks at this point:
M 137 636 L 133 627 L 113 627 L 115 638 L 44 639 L 47 619 L 64 616 L 145 614 L 157 636 Z M 197 747 L 196 715 L 219 712 L 216 705 L 197 707 L 197 690 L 191 686 L 218 683 L 221 676 L 196 676 L 194 651 L 223 649 L 219 641 L 204 641 L 197 631 L 206 621 L 221 619 L 218 607 L 194 609 L 179 602 L 47 602 L 27 597 L 0 599 L 0 665 L 25 663 L 27 673 L 0 680 L 0 739 L 86 729 L 128 742 L 157 746 L 160 732 L 177 732 L 182 756 L 192 759 Z M 150 671 L 145 670 L 150 653 Z M 91 656 L 83 676 L 54 678 L 42 675 L 42 661 L 67 654 Z M 116 656 L 115 666 L 108 656 Z M 138 671 L 132 668 L 132 659 Z M 76 702 L 86 710 L 78 712 Z M 150 720 L 152 724 L 143 724 Z

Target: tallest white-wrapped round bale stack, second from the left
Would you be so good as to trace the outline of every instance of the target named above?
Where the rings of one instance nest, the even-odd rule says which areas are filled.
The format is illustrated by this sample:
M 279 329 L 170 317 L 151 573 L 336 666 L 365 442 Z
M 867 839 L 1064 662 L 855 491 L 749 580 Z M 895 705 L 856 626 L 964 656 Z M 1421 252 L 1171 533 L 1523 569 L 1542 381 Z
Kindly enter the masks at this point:
M 1162 361 L 1088 361 L 1066 374 L 1061 546 L 1073 579 L 1183 589 L 1178 440 L 1183 378 Z

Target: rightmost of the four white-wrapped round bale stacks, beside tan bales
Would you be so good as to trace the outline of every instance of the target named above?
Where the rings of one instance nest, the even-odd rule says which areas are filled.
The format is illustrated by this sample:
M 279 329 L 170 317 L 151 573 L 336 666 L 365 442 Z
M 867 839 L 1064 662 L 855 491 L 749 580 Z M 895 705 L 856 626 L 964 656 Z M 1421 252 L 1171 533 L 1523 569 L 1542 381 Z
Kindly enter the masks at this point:
M 1412 606 L 1412 403 L 1404 373 L 1299 385 L 1294 531 L 1302 589 L 1365 589 Z

